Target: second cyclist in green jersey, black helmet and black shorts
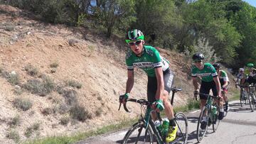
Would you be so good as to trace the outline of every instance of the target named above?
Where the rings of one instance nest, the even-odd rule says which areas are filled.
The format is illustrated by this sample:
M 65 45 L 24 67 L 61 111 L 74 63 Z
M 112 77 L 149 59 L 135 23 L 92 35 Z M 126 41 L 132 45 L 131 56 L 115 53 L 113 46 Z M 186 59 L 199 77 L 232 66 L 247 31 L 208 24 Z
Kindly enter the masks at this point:
M 203 109 L 203 106 L 206 105 L 207 96 L 203 94 L 209 94 L 210 89 L 213 92 L 213 96 L 219 96 L 221 97 L 220 92 L 220 81 L 218 79 L 218 74 L 210 63 L 203 63 L 204 56 L 202 53 L 197 52 L 192 57 L 194 65 L 192 66 L 192 80 L 193 80 L 193 86 L 194 86 L 194 95 L 196 96 L 198 92 L 200 96 L 200 108 Z M 196 77 L 201 78 L 201 87 L 199 90 L 199 84 Z M 218 102 L 218 105 L 220 106 L 220 113 L 218 116 L 218 119 L 222 120 L 224 116 L 224 110 L 223 110 L 223 102 L 216 100 Z M 205 113 L 206 114 L 206 113 Z M 206 128 L 206 116 L 203 116 L 203 121 L 201 121 L 201 128 Z

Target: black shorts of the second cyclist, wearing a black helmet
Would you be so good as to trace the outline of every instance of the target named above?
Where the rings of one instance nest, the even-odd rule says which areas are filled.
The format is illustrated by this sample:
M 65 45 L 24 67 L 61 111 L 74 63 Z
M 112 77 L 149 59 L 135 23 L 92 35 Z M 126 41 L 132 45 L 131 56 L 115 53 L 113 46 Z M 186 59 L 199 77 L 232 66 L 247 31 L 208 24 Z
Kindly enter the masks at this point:
M 207 96 L 203 95 L 203 94 L 210 94 L 210 89 L 212 89 L 213 92 L 213 96 L 217 96 L 218 92 L 217 92 L 217 88 L 216 88 L 216 84 L 214 81 L 212 82 L 201 82 L 201 87 L 199 92 L 202 94 L 199 94 L 200 99 L 205 99 L 207 100 Z

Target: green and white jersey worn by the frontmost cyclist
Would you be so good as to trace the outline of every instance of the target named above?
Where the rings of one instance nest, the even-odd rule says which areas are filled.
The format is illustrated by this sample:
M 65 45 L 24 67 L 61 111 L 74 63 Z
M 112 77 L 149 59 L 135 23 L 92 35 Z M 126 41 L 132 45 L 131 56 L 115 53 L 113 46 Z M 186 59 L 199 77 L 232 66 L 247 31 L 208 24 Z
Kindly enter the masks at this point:
M 169 68 L 169 61 L 161 57 L 156 48 L 149 45 L 144 45 L 141 57 L 137 57 L 132 50 L 129 50 L 126 55 L 126 64 L 128 70 L 134 70 L 134 67 L 139 67 L 149 77 L 156 77 L 154 70 L 156 67 L 162 67 L 163 71 Z

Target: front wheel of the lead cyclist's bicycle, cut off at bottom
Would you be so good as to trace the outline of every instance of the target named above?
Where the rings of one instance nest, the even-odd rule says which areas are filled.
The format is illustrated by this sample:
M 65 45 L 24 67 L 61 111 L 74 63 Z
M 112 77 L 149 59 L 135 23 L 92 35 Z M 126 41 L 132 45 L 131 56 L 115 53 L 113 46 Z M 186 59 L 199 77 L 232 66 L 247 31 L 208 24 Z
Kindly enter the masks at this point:
M 139 131 L 141 131 L 139 133 Z M 146 132 L 147 131 L 147 132 Z M 144 123 L 134 123 L 132 128 L 127 131 L 124 135 L 124 139 L 122 144 L 126 143 L 150 143 L 152 144 L 153 140 L 153 132 L 151 127 L 149 126 L 147 129 L 144 128 Z

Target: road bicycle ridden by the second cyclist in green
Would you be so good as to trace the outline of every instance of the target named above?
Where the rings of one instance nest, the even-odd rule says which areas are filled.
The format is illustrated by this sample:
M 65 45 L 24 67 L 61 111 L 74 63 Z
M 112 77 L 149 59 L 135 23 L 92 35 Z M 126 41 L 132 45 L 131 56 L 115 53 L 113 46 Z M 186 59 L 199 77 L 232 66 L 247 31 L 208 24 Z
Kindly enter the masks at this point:
M 216 104 L 216 102 L 213 101 L 213 99 L 218 99 L 219 97 L 211 96 L 210 94 L 203 94 L 203 95 L 207 96 L 207 101 L 206 101 L 206 105 L 203 106 L 203 109 L 198 118 L 198 125 L 196 129 L 198 143 L 200 143 L 203 140 L 203 137 L 206 135 L 206 131 L 208 130 L 208 127 L 210 126 L 210 124 L 213 125 L 213 132 L 217 131 L 218 126 L 220 124 L 220 120 L 218 119 L 220 108 L 218 104 Z M 206 114 L 206 128 L 201 129 L 201 123 L 203 122 L 203 115 L 205 114 Z

